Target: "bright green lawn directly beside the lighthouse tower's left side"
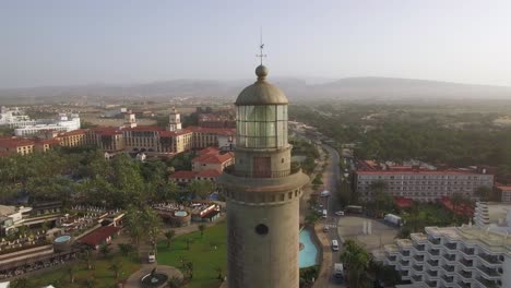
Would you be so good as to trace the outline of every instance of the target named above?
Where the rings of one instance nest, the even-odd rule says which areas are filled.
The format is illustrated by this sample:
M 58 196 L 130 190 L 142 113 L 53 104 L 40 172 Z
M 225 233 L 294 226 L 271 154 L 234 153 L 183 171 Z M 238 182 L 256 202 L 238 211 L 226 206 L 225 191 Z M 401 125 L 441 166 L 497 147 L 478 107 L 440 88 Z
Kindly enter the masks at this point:
M 191 239 L 189 250 L 187 249 L 187 239 Z M 192 262 L 193 278 L 187 287 L 217 288 L 221 285 L 217 279 L 217 268 L 222 268 L 224 276 L 227 268 L 226 241 L 225 221 L 206 228 L 203 237 L 199 231 L 178 236 L 173 239 L 170 248 L 167 248 L 167 241 L 162 241 L 158 243 L 158 264 L 181 269 L 181 260 Z

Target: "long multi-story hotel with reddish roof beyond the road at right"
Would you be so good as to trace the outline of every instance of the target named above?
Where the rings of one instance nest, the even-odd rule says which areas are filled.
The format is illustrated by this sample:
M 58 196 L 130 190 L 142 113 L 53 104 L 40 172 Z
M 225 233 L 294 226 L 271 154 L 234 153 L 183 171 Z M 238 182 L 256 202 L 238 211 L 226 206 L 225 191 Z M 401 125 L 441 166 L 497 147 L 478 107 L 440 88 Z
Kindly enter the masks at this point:
M 387 183 L 387 192 L 416 201 L 436 201 L 442 196 L 461 193 L 475 199 L 480 187 L 492 187 L 494 176 L 485 169 L 428 170 L 418 167 L 388 167 L 385 170 L 358 170 L 355 189 L 363 199 L 371 199 L 370 185 L 375 181 Z

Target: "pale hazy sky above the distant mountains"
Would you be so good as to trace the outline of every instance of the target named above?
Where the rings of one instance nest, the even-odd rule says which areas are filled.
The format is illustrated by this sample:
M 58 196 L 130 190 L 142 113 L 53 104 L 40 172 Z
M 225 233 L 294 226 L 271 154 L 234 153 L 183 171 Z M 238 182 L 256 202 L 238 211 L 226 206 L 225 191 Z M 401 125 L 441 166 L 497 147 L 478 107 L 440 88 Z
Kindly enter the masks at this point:
M 0 87 L 392 76 L 511 86 L 511 1 L 0 1 Z

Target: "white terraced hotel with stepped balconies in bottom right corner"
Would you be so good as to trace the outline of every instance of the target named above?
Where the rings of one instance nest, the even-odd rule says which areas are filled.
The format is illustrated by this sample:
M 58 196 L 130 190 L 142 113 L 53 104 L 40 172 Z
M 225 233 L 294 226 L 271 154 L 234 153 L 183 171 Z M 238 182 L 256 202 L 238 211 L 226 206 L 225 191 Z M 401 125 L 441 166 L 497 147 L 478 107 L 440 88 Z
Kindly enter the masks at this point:
M 372 254 L 411 281 L 400 288 L 511 287 L 511 205 L 478 203 L 474 221 L 426 227 Z

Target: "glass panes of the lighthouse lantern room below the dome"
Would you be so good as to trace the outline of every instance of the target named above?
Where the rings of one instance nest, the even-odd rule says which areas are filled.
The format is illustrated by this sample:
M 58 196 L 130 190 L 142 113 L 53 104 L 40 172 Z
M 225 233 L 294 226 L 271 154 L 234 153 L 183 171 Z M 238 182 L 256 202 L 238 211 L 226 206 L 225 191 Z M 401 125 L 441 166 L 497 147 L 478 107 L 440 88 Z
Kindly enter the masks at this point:
M 287 105 L 237 107 L 236 145 L 281 148 L 287 145 Z

